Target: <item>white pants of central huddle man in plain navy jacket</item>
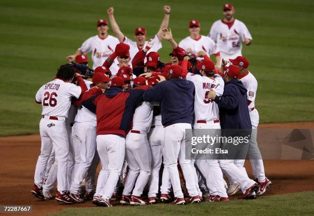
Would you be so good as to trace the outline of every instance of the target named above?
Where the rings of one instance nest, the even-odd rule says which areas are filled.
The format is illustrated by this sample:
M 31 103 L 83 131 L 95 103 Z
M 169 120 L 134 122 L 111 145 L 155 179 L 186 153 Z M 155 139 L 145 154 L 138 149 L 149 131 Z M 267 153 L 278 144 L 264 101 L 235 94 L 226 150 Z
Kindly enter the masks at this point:
M 178 123 L 165 127 L 165 145 L 162 148 L 164 163 L 169 171 L 174 197 L 176 198 L 184 197 L 177 167 L 178 158 L 189 195 L 191 197 L 199 195 L 194 161 L 185 159 L 185 145 L 191 140 L 191 135 L 186 134 L 185 129 L 192 129 L 192 127 L 187 123 Z

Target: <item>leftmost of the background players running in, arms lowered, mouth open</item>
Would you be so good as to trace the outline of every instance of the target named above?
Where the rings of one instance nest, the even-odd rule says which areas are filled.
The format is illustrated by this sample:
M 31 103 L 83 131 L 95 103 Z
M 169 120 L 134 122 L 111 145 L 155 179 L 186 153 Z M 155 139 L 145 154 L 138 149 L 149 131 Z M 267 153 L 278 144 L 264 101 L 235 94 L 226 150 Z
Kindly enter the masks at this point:
M 106 58 L 114 51 L 119 40 L 108 34 L 108 23 L 106 19 L 97 21 L 98 34 L 88 38 L 73 55 L 67 56 L 67 61 L 73 62 L 76 55 L 91 52 L 93 69 L 102 66 Z

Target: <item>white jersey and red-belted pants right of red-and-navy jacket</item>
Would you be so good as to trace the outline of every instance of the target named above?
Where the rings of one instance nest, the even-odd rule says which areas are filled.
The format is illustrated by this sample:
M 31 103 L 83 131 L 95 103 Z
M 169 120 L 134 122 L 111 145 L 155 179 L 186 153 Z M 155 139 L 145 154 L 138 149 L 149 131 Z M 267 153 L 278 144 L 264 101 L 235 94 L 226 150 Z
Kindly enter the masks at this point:
M 123 190 L 124 195 L 140 197 L 149 179 L 151 171 L 151 151 L 147 140 L 152 117 L 153 106 L 143 102 L 135 109 L 133 127 L 126 136 L 126 160 L 129 172 Z

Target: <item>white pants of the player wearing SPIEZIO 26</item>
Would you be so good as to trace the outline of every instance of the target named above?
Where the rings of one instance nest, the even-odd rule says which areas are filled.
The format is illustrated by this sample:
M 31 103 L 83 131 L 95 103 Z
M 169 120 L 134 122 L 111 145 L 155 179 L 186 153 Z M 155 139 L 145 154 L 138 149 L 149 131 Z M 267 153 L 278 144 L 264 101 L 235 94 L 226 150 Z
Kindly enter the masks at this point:
M 64 191 L 68 190 L 69 140 L 65 118 L 58 117 L 58 119 L 60 120 L 49 120 L 49 116 L 45 116 L 40 122 L 42 147 L 35 168 L 34 182 L 38 187 L 43 186 L 45 169 L 53 147 L 58 161 L 57 190 Z

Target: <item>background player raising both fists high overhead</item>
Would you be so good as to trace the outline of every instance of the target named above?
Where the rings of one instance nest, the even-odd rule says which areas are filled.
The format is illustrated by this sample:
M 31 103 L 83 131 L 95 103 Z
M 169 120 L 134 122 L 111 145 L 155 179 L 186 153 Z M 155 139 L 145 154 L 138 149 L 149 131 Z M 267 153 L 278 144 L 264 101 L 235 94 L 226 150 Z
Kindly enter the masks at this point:
M 135 29 L 135 42 L 132 41 L 130 38 L 126 37 L 120 30 L 119 26 L 117 25 L 115 18 L 113 16 L 113 8 L 109 8 L 107 10 L 110 24 L 113 32 L 115 33 L 115 36 L 119 39 L 120 42 L 123 42 L 125 44 L 128 44 L 130 46 L 130 56 L 131 59 L 135 56 L 136 53 L 138 53 L 140 50 L 143 50 L 145 48 L 145 42 L 146 42 L 146 29 L 144 27 L 138 27 Z M 160 30 L 157 32 L 157 34 L 151 39 L 154 42 L 153 48 L 150 50 L 153 52 L 157 52 L 159 49 L 162 48 L 162 31 L 161 29 L 168 28 L 169 24 L 169 17 L 170 17 L 170 6 L 166 5 L 164 6 L 165 16 L 162 21 L 162 24 L 160 26 Z

